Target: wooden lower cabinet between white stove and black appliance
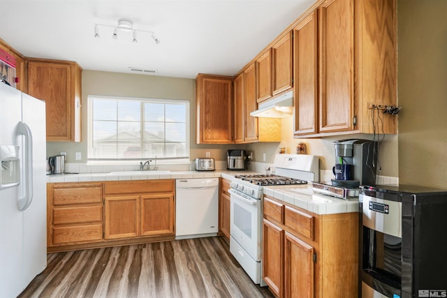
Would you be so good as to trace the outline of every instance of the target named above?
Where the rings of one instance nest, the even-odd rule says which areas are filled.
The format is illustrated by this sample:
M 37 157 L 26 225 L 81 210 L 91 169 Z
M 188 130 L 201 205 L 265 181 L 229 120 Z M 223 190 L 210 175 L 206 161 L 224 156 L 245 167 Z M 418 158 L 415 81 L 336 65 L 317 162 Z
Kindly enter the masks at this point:
M 358 296 L 358 213 L 312 214 L 264 198 L 263 279 L 277 297 Z

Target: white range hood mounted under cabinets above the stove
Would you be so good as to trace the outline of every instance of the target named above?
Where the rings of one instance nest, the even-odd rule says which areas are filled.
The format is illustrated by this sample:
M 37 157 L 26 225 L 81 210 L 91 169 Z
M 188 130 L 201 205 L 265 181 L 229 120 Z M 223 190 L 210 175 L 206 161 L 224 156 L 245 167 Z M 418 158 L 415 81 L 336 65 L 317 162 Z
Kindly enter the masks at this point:
M 253 117 L 284 118 L 293 113 L 293 91 L 271 98 L 258 105 L 258 110 L 250 113 Z

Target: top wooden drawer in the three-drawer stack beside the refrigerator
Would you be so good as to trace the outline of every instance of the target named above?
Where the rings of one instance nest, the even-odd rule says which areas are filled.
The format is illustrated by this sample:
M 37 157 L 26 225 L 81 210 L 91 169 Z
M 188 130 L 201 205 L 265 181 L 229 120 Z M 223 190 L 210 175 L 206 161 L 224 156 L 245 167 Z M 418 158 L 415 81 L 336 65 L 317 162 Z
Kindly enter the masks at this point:
M 103 188 L 101 184 L 95 186 L 53 186 L 54 205 L 102 202 Z

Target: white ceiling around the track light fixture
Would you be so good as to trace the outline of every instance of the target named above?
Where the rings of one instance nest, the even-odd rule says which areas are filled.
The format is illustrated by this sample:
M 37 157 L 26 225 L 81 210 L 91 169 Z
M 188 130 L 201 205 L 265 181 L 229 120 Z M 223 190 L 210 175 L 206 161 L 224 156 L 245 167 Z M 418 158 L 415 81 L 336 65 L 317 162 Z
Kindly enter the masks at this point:
M 0 38 L 26 57 L 77 61 L 85 70 L 156 75 L 235 75 L 315 0 L 0 0 Z M 119 19 L 133 22 L 138 43 L 111 38 Z

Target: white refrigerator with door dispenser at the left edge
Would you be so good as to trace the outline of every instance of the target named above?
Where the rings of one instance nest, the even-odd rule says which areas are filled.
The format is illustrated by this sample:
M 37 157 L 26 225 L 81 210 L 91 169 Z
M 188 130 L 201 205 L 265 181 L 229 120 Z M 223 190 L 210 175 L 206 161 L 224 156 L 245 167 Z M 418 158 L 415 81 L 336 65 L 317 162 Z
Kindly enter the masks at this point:
M 0 83 L 0 298 L 47 266 L 45 102 Z

